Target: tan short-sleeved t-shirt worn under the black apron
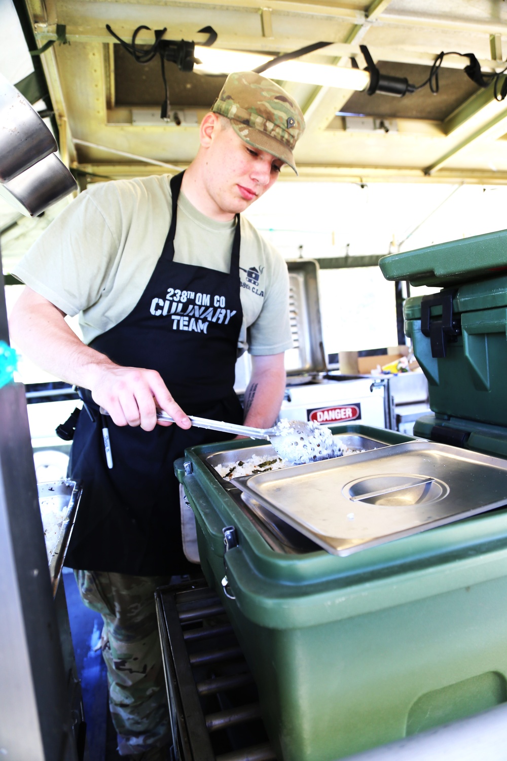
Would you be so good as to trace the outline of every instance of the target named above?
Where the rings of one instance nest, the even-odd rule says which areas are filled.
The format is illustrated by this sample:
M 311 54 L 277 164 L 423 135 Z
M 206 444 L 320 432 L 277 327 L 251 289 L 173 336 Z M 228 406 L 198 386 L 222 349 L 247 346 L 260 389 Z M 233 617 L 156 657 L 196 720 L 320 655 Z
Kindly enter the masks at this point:
M 170 221 L 169 175 L 97 183 L 49 225 L 13 274 L 66 314 L 79 314 L 90 343 L 138 303 Z M 204 216 L 180 193 L 174 260 L 229 272 L 235 224 Z M 287 265 L 244 218 L 239 266 L 239 353 L 291 349 Z

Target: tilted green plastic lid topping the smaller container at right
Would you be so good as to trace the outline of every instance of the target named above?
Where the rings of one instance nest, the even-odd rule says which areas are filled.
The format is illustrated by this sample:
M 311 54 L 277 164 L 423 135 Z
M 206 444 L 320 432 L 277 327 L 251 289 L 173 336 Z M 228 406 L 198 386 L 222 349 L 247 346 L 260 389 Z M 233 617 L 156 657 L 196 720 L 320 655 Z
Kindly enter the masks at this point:
M 379 266 L 386 280 L 440 288 L 496 277 L 507 272 L 507 230 L 391 253 Z

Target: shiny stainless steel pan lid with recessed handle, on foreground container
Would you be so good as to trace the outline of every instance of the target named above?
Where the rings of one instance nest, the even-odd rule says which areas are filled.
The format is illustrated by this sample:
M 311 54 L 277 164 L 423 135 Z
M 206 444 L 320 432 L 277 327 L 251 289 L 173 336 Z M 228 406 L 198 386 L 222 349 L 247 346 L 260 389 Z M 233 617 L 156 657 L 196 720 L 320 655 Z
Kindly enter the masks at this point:
M 244 492 L 335 555 L 507 504 L 506 460 L 428 441 L 241 481 Z

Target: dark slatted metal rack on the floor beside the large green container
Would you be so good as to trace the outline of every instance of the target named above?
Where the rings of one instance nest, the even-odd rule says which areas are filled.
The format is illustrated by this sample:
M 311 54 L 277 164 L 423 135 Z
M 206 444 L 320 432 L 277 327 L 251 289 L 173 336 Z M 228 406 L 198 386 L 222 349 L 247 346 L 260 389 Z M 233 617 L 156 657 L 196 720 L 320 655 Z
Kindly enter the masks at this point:
M 217 595 L 203 579 L 161 587 L 156 600 L 173 761 L 276 761 Z

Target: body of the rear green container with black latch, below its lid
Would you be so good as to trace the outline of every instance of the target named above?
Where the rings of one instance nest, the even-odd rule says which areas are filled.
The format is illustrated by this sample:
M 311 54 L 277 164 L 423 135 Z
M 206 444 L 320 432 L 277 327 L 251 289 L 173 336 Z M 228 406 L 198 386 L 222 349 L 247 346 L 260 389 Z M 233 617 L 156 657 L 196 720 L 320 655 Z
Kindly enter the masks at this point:
M 433 412 L 507 426 L 507 276 L 408 298 L 404 318 Z

